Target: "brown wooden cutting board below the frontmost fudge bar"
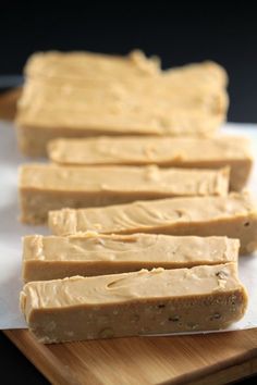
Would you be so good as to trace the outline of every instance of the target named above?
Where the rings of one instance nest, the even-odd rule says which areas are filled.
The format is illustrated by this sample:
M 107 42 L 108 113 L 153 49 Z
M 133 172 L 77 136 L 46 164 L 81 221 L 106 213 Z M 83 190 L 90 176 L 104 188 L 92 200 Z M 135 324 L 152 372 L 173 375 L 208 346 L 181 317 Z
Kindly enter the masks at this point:
M 58 345 L 25 330 L 4 334 L 52 384 L 218 385 L 257 373 L 257 328 Z

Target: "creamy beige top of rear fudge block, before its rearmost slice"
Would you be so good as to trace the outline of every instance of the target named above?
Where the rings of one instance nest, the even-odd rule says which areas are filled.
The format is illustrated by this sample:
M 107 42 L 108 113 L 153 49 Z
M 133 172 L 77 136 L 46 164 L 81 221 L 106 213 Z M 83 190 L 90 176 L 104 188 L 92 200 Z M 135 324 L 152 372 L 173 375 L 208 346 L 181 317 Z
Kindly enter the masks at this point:
M 183 82 L 183 78 L 182 80 Z M 200 96 L 200 97 L 199 97 Z M 19 126 L 99 134 L 204 135 L 223 122 L 227 94 L 212 84 L 157 80 L 75 87 L 28 78 L 19 102 Z M 204 126 L 204 124 L 206 126 Z M 64 135 L 65 136 L 65 135 Z

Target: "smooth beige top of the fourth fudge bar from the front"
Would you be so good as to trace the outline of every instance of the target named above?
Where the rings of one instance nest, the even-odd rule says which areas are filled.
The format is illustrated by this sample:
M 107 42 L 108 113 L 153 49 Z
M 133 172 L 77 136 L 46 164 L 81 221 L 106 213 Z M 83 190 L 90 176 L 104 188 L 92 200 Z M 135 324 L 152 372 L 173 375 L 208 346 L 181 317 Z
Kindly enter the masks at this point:
M 229 169 L 184 170 L 150 166 L 57 166 L 24 164 L 20 188 L 52 192 L 151 192 L 158 195 L 227 195 Z

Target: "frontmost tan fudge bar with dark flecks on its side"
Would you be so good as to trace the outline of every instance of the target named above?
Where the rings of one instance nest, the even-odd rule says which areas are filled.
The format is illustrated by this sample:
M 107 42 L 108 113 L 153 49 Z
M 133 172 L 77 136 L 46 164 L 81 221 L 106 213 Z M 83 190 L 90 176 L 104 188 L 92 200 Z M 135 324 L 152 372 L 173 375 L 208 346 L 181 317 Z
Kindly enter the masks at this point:
M 247 294 L 227 263 L 30 282 L 20 301 L 29 330 L 50 344 L 224 328 L 244 315 Z

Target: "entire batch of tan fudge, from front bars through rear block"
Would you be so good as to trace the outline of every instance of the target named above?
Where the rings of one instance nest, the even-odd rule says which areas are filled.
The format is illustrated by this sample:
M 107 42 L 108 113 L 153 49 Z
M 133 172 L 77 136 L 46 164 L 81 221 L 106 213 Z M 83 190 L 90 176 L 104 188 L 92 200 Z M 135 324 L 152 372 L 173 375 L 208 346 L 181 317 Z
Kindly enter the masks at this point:
M 42 343 L 224 328 L 244 315 L 238 252 L 256 249 L 244 138 L 215 136 L 215 63 L 35 54 L 17 113 L 21 309 Z M 188 87 L 188 84 L 191 85 Z M 105 135 L 105 136 L 102 136 Z

